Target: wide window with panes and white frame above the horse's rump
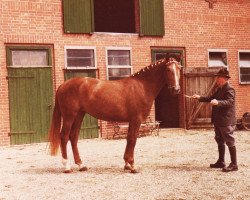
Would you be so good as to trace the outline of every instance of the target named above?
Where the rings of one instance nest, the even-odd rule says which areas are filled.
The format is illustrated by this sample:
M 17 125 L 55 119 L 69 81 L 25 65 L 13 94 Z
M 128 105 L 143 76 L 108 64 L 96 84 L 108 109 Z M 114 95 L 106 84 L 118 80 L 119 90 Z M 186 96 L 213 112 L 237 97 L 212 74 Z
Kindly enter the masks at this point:
M 65 47 L 65 64 L 67 69 L 95 69 L 95 48 Z

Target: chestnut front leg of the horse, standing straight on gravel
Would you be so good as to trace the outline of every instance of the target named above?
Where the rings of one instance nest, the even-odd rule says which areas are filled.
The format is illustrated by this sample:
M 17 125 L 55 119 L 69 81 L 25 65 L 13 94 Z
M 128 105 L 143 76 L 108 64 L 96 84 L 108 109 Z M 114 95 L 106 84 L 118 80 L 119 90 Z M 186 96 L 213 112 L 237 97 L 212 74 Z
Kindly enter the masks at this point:
M 131 173 L 138 173 L 134 164 L 134 149 L 136 145 L 137 135 L 139 132 L 141 123 L 140 122 L 130 122 L 128 135 L 127 135 L 127 145 L 124 153 L 125 170 L 130 170 Z

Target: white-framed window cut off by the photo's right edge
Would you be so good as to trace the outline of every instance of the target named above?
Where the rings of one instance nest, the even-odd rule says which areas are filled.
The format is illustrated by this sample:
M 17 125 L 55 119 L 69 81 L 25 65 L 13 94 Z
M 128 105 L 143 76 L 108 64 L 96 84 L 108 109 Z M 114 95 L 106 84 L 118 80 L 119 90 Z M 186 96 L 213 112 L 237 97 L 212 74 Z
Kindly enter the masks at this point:
M 242 84 L 250 84 L 250 51 L 239 51 L 239 79 Z

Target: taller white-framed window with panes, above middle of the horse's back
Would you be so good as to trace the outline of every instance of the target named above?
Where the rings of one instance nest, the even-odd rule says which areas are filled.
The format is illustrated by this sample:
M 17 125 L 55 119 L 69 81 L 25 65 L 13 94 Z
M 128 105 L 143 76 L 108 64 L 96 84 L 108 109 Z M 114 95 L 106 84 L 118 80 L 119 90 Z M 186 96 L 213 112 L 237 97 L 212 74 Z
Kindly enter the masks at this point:
M 131 73 L 131 49 L 107 48 L 107 79 L 121 79 L 130 76 Z

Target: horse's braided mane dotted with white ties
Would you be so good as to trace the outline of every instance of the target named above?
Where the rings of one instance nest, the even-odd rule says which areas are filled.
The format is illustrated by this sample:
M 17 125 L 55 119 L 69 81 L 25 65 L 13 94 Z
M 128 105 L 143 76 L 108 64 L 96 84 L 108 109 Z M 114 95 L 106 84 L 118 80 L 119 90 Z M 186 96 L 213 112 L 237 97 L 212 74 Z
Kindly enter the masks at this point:
M 151 63 L 150 65 L 142 68 L 140 71 L 132 74 L 131 77 L 145 76 L 146 74 L 148 74 L 149 72 L 152 72 L 153 70 L 156 70 L 160 66 L 163 66 L 163 65 L 166 65 L 166 64 L 172 63 L 172 62 L 177 62 L 177 61 L 174 58 L 169 58 L 169 59 L 163 58 L 161 60 L 158 60 L 158 61 Z

